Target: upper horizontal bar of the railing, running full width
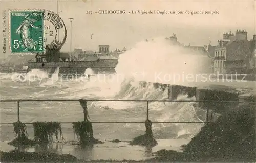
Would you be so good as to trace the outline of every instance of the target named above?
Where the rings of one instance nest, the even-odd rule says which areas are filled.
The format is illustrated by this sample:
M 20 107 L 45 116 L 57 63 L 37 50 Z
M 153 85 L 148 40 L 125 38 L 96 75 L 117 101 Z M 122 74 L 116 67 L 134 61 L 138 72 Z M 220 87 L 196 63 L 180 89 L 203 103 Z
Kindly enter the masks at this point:
M 120 102 L 223 102 L 223 103 L 252 103 L 252 104 L 256 104 L 256 102 L 242 102 L 242 101 L 210 101 L 210 100 L 87 100 L 87 99 L 82 99 L 82 100 L 86 100 L 86 101 L 120 101 Z M 54 99 L 54 100 L 25 100 L 25 99 L 16 99 L 16 100 L 0 100 L 0 102 L 17 102 L 17 101 L 23 101 L 23 102 L 36 102 L 36 101 L 79 101 L 77 99 Z

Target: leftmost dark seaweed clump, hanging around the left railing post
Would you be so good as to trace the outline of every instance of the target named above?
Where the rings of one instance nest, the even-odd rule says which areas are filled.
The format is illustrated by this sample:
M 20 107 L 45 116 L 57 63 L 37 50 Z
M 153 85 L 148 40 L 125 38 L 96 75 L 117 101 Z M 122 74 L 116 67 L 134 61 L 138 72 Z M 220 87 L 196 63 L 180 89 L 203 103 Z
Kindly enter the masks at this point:
M 9 142 L 9 145 L 18 147 L 18 146 L 33 146 L 36 144 L 35 141 L 28 138 L 27 126 L 20 122 L 13 123 L 13 132 L 16 134 L 15 139 Z

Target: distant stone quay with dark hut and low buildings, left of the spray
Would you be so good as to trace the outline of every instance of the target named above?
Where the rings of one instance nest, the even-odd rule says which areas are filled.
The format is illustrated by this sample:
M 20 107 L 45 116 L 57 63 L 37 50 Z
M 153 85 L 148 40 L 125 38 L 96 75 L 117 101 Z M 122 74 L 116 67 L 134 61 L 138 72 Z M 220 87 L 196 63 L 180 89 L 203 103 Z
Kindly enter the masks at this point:
M 107 46 L 104 46 L 107 48 Z M 102 50 L 102 49 L 101 49 Z M 104 52 L 108 52 L 109 49 L 103 49 Z M 76 57 L 76 56 L 72 56 Z M 118 59 L 107 55 L 90 53 L 90 56 L 84 57 L 80 61 L 71 60 L 70 52 L 60 52 L 58 47 L 46 47 L 46 53 L 37 54 L 36 62 L 29 62 L 25 67 L 27 71 L 30 69 L 44 69 L 49 73 L 49 77 L 58 69 L 59 74 L 68 75 L 74 74 L 81 76 L 84 74 L 87 68 L 91 68 L 94 73 L 114 73 L 115 67 L 118 64 Z

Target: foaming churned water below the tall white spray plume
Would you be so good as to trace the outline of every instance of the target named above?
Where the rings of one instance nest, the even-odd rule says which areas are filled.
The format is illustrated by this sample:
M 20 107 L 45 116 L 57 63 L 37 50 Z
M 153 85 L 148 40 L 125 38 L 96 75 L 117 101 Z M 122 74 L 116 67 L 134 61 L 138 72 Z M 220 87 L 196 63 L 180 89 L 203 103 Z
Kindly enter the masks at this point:
M 38 87 L 38 91 L 34 91 L 30 96 L 23 95 L 23 98 L 28 99 L 46 99 L 51 97 L 52 99 L 116 99 L 116 100 L 167 100 L 168 90 L 164 91 L 161 88 L 154 88 L 152 83 L 147 85 L 141 85 L 139 81 L 134 79 L 125 79 L 120 85 L 117 83 L 108 82 L 69 82 L 69 81 L 55 81 L 51 82 L 51 79 L 47 77 L 47 72 L 40 72 L 41 76 L 45 77 L 45 81 L 42 81 Z M 2 78 L 7 78 L 7 74 L 1 74 Z M 18 76 L 18 74 L 16 74 Z M 2 79 L 1 78 L 1 79 Z M 10 78 L 8 76 L 8 78 Z M 21 89 L 22 87 L 16 86 L 17 82 L 14 82 L 15 86 L 11 86 L 11 89 Z M 34 85 L 35 86 L 35 85 Z M 20 90 L 24 92 L 26 89 Z M 186 95 L 180 95 L 177 100 L 195 100 L 193 98 L 186 98 Z M 193 103 L 179 103 L 179 102 L 150 102 L 150 119 L 154 122 L 164 121 L 202 121 L 198 118 L 196 109 Z M 97 109 L 96 109 L 97 108 Z M 96 109 L 96 112 L 110 111 L 115 112 L 124 110 L 132 115 L 133 121 L 144 121 L 146 112 L 145 102 L 92 102 L 89 106 L 90 109 Z M 70 114 L 70 113 L 67 113 Z M 118 115 L 117 115 L 118 116 Z M 129 121 L 129 118 L 125 118 Z M 130 121 L 132 121 L 130 120 Z M 112 121 L 116 121 L 112 118 Z M 127 124 L 126 128 L 130 128 Z M 153 131 L 156 138 L 190 138 L 201 129 L 201 124 L 166 124 L 159 123 L 153 124 Z M 138 124 L 137 130 L 134 135 L 144 132 L 144 124 Z

